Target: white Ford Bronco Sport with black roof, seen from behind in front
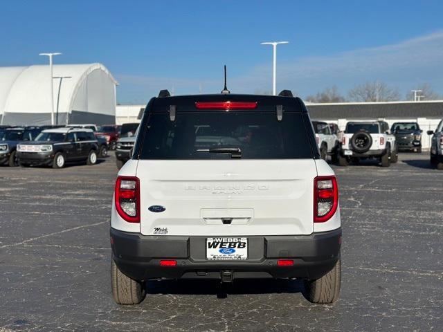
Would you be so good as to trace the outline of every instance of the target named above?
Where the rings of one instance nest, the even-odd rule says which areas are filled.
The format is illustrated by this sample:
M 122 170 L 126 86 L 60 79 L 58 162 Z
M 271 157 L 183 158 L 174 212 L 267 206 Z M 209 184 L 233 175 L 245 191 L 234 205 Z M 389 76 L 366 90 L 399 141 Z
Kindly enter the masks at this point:
M 332 303 L 340 247 L 336 177 L 302 100 L 150 100 L 111 210 L 118 304 L 141 302 L 149 279 L 257 277 L 303 279 L 309 301 Z

